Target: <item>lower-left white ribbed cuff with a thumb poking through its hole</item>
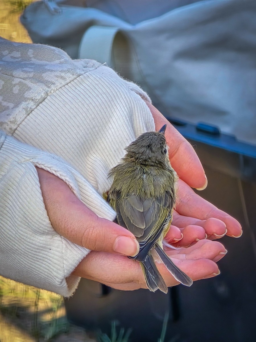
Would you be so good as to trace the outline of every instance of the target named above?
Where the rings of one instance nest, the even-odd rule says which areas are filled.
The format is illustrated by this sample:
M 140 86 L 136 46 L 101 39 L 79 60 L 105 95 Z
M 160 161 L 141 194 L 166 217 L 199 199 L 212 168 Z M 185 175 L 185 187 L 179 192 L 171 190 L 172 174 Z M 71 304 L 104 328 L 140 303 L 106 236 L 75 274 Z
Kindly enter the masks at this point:
M 53 229 L 35 166 L 64 180 L 98 215 L 113 220 L 115 213 L 67 162 L 0 131 L 1 275 L 68 297 L 80 280 L 70 274 L 89 250 Z

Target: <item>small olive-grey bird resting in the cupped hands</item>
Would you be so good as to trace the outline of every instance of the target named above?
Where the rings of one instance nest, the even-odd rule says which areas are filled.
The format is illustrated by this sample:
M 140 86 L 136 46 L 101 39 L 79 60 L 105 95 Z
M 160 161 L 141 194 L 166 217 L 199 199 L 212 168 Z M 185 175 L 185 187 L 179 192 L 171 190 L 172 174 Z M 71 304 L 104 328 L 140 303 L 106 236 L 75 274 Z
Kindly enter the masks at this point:
M 105 198 L 116 212 L 115 222 L 139 242 L 139 253 L 128 258 L 140 262 L 148 289 L 167 293 L 154 257 L 161 259 L 177 281 L 186 286 L 193 281 L 163 251 L 162 240 L 172 222 L 178 179 L 170 164 L 165 130 L 166 125 L 157 132 L 143 133 L 126 147 L 122 161 L 109 172 L 113 183 Z

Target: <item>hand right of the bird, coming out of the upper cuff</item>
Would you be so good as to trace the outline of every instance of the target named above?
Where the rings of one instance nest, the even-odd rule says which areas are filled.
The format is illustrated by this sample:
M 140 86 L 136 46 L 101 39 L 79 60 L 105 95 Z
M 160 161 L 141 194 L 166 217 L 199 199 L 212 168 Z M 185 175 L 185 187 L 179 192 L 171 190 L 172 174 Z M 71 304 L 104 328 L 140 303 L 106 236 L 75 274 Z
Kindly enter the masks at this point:
M 190 188 L 204 189 L 207 186 L 203 167 L 194 148 L 152 104 L 146 103 L 153 115 L 156 130 L 167 123 L 165 136 L 169 145 L 169 157 L 172 167 L 180 177 L 178 201 L 166 240 L 176 243 L 175 246 L 189 246 L 198 240 L 219 239 L 225 234 L 241 236 L 242 228 L 236 219 L 217 209 Z

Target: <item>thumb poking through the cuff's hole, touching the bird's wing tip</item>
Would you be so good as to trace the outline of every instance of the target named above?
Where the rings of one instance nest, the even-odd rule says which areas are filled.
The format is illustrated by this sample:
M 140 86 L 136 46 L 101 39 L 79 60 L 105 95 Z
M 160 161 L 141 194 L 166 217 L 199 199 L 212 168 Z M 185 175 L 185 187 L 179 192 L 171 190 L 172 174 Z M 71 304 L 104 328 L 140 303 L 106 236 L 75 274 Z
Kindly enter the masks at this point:
M 38 169 L 45 208 L 57 233 L 90 250 L 136 255 L 139 244 L 127 229 L 99 218 L 57 176 Z

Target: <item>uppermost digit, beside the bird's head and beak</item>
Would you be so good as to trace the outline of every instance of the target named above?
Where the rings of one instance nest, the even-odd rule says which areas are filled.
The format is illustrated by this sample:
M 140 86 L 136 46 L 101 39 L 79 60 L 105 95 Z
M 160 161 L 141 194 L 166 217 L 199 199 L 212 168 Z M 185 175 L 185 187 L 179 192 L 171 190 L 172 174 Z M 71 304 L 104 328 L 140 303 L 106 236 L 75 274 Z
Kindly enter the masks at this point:
M 169 146 L 171 165 L 189 186 L 205 188 L 207 179 L 202 164 L 189 142 L 170 124 L 152 104 L 147 103 L 153 115 L 156 130 L 167 124 L 165 136 Z

